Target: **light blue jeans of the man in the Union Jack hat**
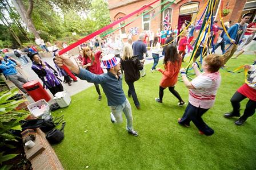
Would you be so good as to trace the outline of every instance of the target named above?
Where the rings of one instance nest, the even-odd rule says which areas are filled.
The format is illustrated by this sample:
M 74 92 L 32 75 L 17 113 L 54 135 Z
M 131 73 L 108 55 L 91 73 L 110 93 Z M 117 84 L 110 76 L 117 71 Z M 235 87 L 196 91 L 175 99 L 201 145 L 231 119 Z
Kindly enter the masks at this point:
M 122 112 L 125 113 L 126 122 L 127 122 L 126 130 L 127 131 L 133 130 L 133 115 L 131 114 L 131 105 L 127 98 L 125 102 L 122 103 L 122 105 L 109 106 L 109 107 L 117 123 L 123 122 Z

